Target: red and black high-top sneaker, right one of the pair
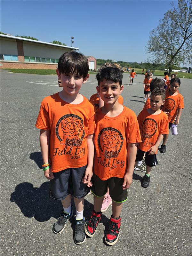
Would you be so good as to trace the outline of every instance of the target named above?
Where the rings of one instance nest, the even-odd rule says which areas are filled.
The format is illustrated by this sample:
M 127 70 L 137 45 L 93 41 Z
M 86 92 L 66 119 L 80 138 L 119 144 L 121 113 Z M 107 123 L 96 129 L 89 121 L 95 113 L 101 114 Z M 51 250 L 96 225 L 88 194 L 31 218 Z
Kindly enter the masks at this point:
M 121 227 L 121 218 L 119 217 L 114 219 L 113 215 L 111 215 L 109 228 L 105 236 L 106 244 L 109 244 L 109 245 L 116 244 L 119 238 L 120 227 Z

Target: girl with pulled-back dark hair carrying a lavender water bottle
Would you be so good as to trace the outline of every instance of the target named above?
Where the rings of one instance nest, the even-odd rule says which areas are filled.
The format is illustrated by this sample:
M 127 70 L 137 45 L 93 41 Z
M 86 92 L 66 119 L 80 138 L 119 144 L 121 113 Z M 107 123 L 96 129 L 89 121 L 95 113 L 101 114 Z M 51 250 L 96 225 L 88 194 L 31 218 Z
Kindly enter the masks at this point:
M 179 124 L 182 109 L 184 108 L 183 96 L 178 93 L 180 87 L 180 79 L 175 77 L 171 79 L 169 92 L 166 93 L 165 104 L 162 108 L 163 111 L 168 112 L 167 116 L 169 119 L 169 129 L 171 128 L 173 122 Z M 175 119 L 176 117 L 176 119 Z M 174 121 L 175 120 L 175 121 Z M 169 134 L 166 134 L 161 145 L 161 153 L 166 152 L 166 142 L 168 140 Z

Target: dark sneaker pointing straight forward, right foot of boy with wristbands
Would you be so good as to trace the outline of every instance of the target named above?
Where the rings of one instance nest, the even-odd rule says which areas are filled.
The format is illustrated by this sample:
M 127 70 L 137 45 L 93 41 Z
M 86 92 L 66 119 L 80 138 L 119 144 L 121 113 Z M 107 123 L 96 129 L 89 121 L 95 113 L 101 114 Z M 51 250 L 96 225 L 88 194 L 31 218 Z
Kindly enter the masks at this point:
M 86 240 L 85 232 L 85 219 L 75 221 L 75 236 L 74 241 L 76 244 L 83 244 Z

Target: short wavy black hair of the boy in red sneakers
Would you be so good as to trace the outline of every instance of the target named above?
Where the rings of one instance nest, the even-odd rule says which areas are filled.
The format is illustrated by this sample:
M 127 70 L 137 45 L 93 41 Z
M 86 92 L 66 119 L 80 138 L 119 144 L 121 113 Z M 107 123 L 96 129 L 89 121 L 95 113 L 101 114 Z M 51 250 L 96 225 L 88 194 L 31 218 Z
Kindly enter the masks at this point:
M 119 70 L 119 68 L 108 67 L 108 68 L 101 69 L 97 73 L 96 78 L 97 78 L 98 85 L 100 85 L 100 82 L 102 82 L 103 79 L 105 78 L 107 81 L 111 80 L 115 83 L 119 82 L 121 87 L 123 75 L 122 75 L 122 71 Z

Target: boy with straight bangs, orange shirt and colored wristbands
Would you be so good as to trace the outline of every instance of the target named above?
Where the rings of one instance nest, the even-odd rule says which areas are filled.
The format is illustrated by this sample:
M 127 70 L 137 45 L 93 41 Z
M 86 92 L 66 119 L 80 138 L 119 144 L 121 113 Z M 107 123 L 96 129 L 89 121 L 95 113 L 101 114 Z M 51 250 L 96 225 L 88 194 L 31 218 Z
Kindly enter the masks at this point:
M 63 212 L 53 225 L 53 232 L 63 231 L 73 216 L 71 196 L 76 206 L 76 244 L 84 243 L 84 196 L 90 189 L 94 155 L 93 133 L 95 109 L 79 93 L 88 77 L 89 66 L 84 55 L 66 52 L 58 62 L 57 75 L 63 90 L 44 98 L 36 127 L 40 131 L 40 146 L 44 176 L 50 180 L 50 197 L 60 200 Z

